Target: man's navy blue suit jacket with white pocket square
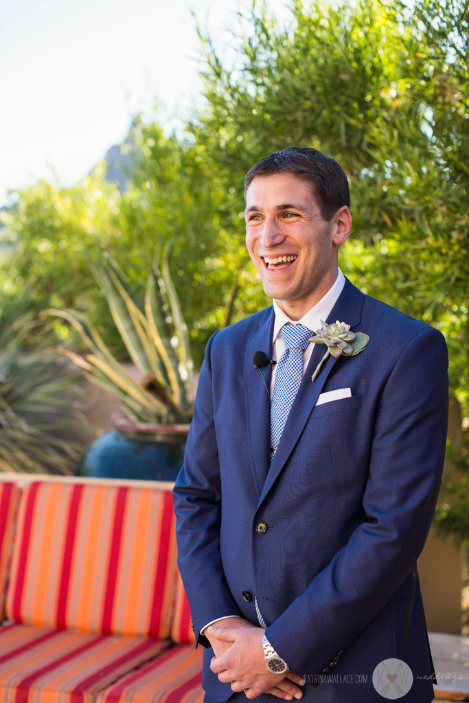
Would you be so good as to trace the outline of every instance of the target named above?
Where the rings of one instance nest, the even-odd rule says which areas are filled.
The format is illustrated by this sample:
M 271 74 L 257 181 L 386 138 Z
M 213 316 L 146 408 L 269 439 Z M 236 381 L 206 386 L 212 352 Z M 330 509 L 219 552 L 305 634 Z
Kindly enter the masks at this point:
M 396 657 L 413 672 L 406 700 L 423 703 L 433 671 L 416 560 L 444 459 L 446 344 L 348 280 L 336 319 L 368 346 L 329 356 L 311 382 L 325 351 L 315 345 L 271 465 L 269 396 L 252 357 L 271 356 L 273 309 L 210 339 L 174 487 L 179 568 L 195 633 L 229 614 L 257 624 L 243 598 L 256 594 L 291 669 L 317 683 L 336 662 L 330 683 L 307 683 L 305 701 L 382 701 L 373 669 Z M 269 387 L 271 367 L 263 373 Z M 351 397 L 316 406 L 320 393 L 348 387 Z M 212 656 L 207 699 L 225 700 L 231 688 L 210 671 Z

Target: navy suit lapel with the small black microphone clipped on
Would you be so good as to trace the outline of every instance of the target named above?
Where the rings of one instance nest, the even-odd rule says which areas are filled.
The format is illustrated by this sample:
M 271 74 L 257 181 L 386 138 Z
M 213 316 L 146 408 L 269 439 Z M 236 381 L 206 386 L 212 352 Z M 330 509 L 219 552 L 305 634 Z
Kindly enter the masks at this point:
M 255 352 L 264 352 L 271 358 L 272 335 L 274 333 L 274 309 L 266 311 L 264 320 L 246 344 L 245 354 L 245 403 L 248 430 L 248 449 L 252 475 L 259 498 L 269 470 L 270 449 L 270 383 L 272 366 L 255 368 L 252 357 Z M 261 372 L 264 381 L 261 378 Z

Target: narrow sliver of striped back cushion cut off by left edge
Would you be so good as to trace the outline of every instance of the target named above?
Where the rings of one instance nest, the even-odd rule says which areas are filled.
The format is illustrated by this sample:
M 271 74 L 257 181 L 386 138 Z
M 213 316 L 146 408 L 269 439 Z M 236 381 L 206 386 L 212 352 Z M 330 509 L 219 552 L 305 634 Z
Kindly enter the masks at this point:
M 5 617 L 6 587 L 20 494 L 16 484 L 11 481 L 0 482 L 0 621 Z

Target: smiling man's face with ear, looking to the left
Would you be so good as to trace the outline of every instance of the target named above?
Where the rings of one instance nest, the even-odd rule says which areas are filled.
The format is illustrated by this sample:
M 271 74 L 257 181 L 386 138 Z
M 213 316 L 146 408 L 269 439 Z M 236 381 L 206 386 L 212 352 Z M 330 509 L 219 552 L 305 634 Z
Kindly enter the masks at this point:
M 294 174 L 256 176 L 246 193 L 246 246 L 266 295 L 299 320 L 337 277 L 349 209 L 323 219 L 311 186 Z

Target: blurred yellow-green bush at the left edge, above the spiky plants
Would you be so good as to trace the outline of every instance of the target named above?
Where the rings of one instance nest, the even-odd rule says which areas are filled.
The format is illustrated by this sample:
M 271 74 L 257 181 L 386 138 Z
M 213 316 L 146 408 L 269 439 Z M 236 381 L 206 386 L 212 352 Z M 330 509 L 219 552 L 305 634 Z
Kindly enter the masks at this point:
M 39 181 L 19 193 L 16 207 L 3 215 L 0 231 L 17 254 L 10 285 L 20 289 L 32 276 L 38 309 L 73 305 L 91 310 L 98 326 L 105 327 L 107 309 L 96 295 L 89 261 L 119 246 L 120 200 L 117 188 L 103 181 L 103 165 L 72 188 Z

